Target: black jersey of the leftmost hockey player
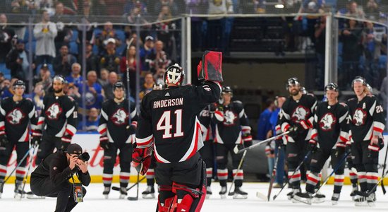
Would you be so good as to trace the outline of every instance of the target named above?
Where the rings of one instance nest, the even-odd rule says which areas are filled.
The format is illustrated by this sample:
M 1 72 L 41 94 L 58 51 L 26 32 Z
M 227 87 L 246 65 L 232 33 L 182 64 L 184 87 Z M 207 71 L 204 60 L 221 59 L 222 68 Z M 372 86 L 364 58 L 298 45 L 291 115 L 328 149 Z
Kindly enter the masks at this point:
M 5 130 L 10 141 L 30 141 L 32 132 L 37 129 L 37 112 L 31 100 L 23 98 L 15 102 L 13 98 L 5 98 L 0 104 L 0 134 Z

